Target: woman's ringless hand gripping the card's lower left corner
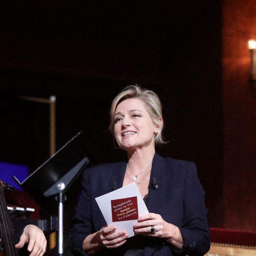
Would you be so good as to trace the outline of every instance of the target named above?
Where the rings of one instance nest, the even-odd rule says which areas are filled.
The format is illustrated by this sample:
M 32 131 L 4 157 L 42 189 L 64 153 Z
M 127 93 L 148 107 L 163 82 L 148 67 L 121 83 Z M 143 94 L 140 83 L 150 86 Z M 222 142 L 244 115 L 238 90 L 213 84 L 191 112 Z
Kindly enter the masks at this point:
M 116 231 L 116 226 L 104 226 L 99 231 L 99 239 L 106 248 L 117 248 L 126 242 L 125 230 Z

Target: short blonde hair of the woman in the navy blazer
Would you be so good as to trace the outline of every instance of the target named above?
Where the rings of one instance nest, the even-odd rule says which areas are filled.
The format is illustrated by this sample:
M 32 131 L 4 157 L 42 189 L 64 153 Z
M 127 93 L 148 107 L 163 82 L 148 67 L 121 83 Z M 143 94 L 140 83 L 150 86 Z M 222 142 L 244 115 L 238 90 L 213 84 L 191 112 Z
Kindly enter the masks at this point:
M 110 125 L 109 131 L 114 135 L 114 115 L 117 109 L 117 105 L 123 102 L 126 99 L 130 98 L 139 98 L 143 100 L 145 103 L 147 112 L 150 114 L 154 124 L 157 124 L 159 127 L 158 133 L 155 135 L 154 141 L 155 145 L 164 144 L 164 140 L 162 138 L 162 130 L 163 130 L 163 122 L 159 121 L 159 118 L 163 120 L 162 117 L 162 104 L 158 95 L 154 93 L 152 90 L 147 90 L 145 88 L 141 88 L 138 85 L 129 85 L 122 90 L 116 98 L 113 99 L 111 109 L 110 109 Z

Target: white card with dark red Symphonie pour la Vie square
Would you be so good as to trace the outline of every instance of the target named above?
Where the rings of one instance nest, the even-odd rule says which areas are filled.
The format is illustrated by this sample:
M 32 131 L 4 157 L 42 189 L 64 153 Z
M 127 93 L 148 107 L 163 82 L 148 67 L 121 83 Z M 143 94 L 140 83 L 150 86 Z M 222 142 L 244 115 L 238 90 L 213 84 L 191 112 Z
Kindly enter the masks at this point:
M 133 237 L 133 224 L 139 216 L 147 214 L 146 204 L 135 182 L 103 196 L 95 198 L 105 221 L 117 230 L 125 230 Z

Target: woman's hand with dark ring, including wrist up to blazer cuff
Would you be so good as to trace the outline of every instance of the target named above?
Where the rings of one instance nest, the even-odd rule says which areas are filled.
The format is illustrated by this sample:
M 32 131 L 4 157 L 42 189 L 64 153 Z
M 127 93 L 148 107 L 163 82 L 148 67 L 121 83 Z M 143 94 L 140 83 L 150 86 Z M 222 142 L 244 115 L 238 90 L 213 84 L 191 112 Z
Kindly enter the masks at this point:
M 142 234 L 148 237 L 159 237 L 175 248 L 182 249 L 183 238 L 178 227 L 163 220 L 159 214 L 148 213 L 138 218 L 134 223 L 135 234 Z

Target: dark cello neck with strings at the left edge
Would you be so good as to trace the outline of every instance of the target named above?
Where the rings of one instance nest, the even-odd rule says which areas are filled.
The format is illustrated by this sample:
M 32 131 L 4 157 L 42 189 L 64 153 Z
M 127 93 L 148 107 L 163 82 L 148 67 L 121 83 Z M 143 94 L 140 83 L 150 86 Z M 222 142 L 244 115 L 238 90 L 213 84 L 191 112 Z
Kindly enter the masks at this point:
M 10 186 L 0 180 L 0 230 L 4 240 L 4 253 L 5 256 L 19 256 L 19 251 L 15 248 L 15 235 L 4 197 L 4 188 Z

